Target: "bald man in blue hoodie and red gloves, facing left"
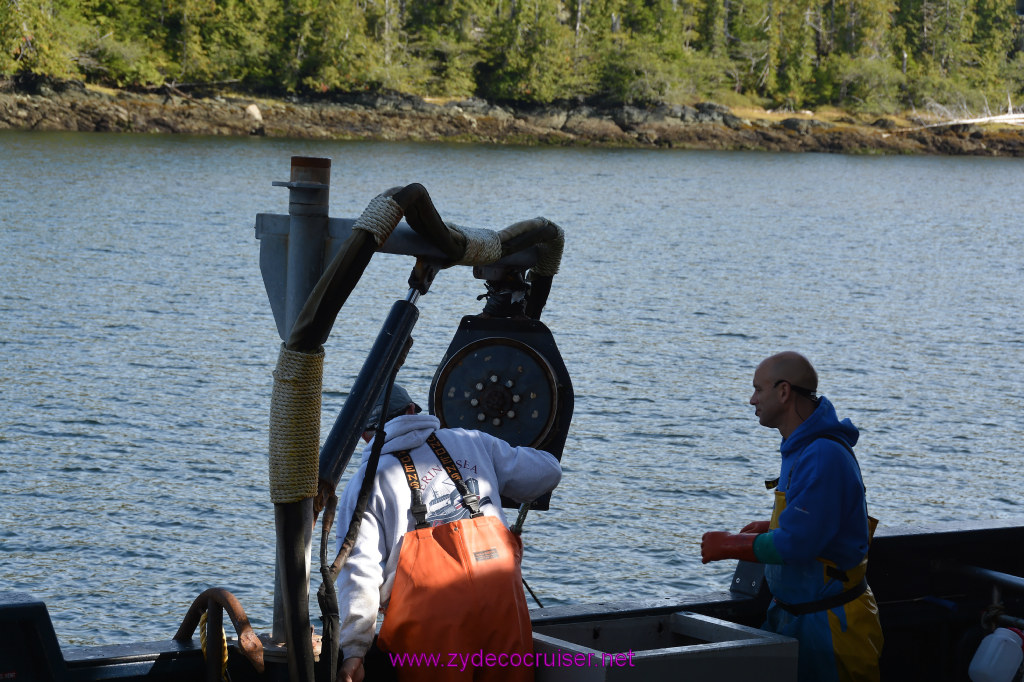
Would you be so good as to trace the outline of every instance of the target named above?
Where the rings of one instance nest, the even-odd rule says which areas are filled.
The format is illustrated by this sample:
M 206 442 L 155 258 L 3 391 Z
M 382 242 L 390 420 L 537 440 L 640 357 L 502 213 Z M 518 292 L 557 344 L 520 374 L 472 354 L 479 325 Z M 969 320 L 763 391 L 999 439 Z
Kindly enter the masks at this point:
M 758 366 L 754 414 L 782 435 L 781 471 L 768 483 L 771 520 L 706 532 L 700 558 L 765 564 L 774 598 L 762 627 L 800 641 L 801 682 L 878 680 L 883 637 L 864 578 L 873 519 L 853 454 L 859 431 L 817 389 L 817 373 L 799 353 Z

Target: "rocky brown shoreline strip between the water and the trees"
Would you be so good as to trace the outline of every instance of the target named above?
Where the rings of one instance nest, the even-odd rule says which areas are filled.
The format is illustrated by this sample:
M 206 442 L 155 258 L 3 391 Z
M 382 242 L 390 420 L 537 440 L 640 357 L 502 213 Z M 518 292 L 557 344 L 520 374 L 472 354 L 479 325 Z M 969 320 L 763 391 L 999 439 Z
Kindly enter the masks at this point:
M 654 109 L 510 108 L 361 93 L 330 101 L 103 90 L 79 83 L 33 92 L 0 80 L 0 130 L 63 130 L 318 139 L 601 145 L 836 154 L 1024 156 L 1024 129 L 874 118 L 750 114 L 713 102 Z

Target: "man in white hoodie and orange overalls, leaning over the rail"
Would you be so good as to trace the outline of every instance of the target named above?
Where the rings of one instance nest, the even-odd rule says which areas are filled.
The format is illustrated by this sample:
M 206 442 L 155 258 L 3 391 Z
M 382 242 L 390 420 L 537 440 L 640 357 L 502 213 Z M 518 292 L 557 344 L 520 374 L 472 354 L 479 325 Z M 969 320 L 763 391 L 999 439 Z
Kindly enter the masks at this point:
M 487 677 L 487 673 L 496 679 L 515 679 L 519 676 L 516 673 L 531 679 L 532 671 L 528 668 L 531 642 L 522 641 L 529 638 L 529 616 L 518 565 L 521 548 L 518 538 L 508 531 L 501 496 L 529 502 L 550 493 L 561 478 L 558 461 L 544 451 L 513 447 L 481 431 L 441 429 L 436 417 L 419 414 L 419 406 L 397 384 L 392 388 L 386 411 L 381 402 L 383 398 L 371 413 L 364 438 L 371 441 L 373 430 L 384 419 L 384 446 L 356 543 L 338 576 L 344 656 L 339 679 L 344 682 L 362 679 L 362 660 L 373 644 L 378 610 L 385 613 L 381 640 L 388 640 L 392 647 L 388 653 L 399 679 L 469 679 L 474 666 L 467 663 L 467 655 L 481 650 L 483 654 L 494 654 L 494 665 L 481 667 L 477 663 L 476 679 Z M 368 444 L 364 450 L 359 469 L 339 500 L 338 519 L 342 524 L 355 509 L 371 449 L 372 444 Z M 447 466 L 443 463 L 444 451 L 451 455 Z M 404 459 L 404 464 L 399 458 Z M 462 479 L 468 495 L 457 488 L 451 475 L 455 469 L 458 471 L 454 477 Z M 411 485 L 411 481 L 417 485 Z M 425 506 L 425 510 L 420 508 L 420 523 L 412 512 L 413 487 L 418 487 Z M 478 497 L 478 503 L 474 496 Z M 475 515 L 481 518 L 470 518 L 474 516 L 473 508 L 478 508 Z M 488 516 L 494 518 L 483 518 Z M 485 570 L 490 570 L 490 565 L 502 566 L 499 570 L 503 573 L 503 587 L 496 589 L 497 584 L 492 583 L 485 598 L 499 602 L 497 607 L 510 613 L 508 617 L 496 617 L 496 604 L 481 603 L 480 594 L 467 594 L 474 584 L 482 583 L 477 580 L 482 574 L 481 568 L 470 567 L 470 580 L 459 582 L 453 578 L 453 583 L 437 583 L 435 573 L 452 568 L 440 565 L 447 557 L 444 551 L 455 554 L 445 546 L 451 541 L 441 535 L 447 532 L 451 538 L 454 529 L 454 537 L 461 541 L 470 534 L 460 534 L 460 529 L 472 530 L 462 524 L 471 521 L 474 526 L 478 521 L 492 526 L 487 532 L 497 540 L 486 542 L 509 550 L 501 549 L 499 553 L 514 555 L 510 559 L 506 556 L 509 560 L 505 563 L 480 564 Z M 420 530 L 416 529 L 418 526 Z M 442 551 L 436 552 L 439 546 L 443 546 Z M 413 547 L 417 548 L 415 552 Z M 418 556 L 429 552 L 439 554 L 440 564 L 436 560 L 418 561 Z M 487 559 L 492 552 L 495 550 L 487 547 L 469 554 L 476 559 Z M 435 583 L 433 587 L 431 581 Z M 391 603 L 392 592 L 401 601 L 400 605 Z M 510 620 L 518 623 L 506 623 Z M 503 628 L 506 632 L 498 632 Z M 513 631 L 511 635 L 509 629 Z M 401 643 L 395 645 L 395 642 Z M 437 650 L 438 647 L 446 650 Z M 411 657 L 421 654 L 435 657 Z M 502 654 L 504 657 L 500 658 Z

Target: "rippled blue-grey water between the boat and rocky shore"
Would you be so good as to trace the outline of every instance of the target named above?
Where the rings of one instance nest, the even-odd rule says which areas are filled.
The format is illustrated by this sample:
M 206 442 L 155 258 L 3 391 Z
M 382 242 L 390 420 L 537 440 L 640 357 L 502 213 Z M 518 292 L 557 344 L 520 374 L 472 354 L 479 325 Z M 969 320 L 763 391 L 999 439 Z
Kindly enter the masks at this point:
M 862 429 L 883 523 L 1024 516 L 1019 160 L 5 132 L 0 589 L 63 644 L 169 638 L 212 586 L 270 628 L 253 222 L 287 212 L 293 155 L 333 159 L 333 215 L 418 181 L 461 224 L 565 228 L 544 319 L 575 416 L 523 568 L 546 605 L 724 589 L 699 538 L 767 515 L 778 436 L 746 399 L 786 348 Z M 411 264 L 378 257 L 339 316 L 325 435 Z M 422 299 L 418 395 L 480 285 L 446 270 Z

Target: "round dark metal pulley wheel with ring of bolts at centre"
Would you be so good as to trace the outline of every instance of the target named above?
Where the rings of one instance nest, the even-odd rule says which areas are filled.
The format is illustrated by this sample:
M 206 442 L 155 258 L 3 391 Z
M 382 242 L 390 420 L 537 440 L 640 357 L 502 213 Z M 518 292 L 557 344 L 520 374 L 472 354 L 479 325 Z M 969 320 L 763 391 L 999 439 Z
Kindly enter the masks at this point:
M 555 422 L 557 387 L 551 365 L 527 344 L 479 339 L 441 367 L 433 410 L 442 427 L 476 429 L 536 447 Z

